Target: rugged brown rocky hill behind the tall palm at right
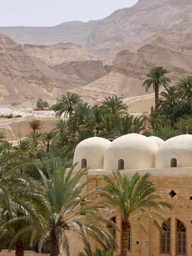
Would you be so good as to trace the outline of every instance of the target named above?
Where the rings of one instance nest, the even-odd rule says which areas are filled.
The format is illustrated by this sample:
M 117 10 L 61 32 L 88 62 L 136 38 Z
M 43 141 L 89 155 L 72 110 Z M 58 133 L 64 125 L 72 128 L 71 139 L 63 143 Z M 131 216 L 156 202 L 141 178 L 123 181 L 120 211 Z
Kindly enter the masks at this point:
M 164 38 L 158 37 L 137 51 L 120 51 L 107 75 L 70 91 L 81 95 L 90 104 L 101 102 L 107 95 L 120 95 L 123 98 L 146 95 L 142 83 L 149 69 L 155 66 L 167 68 L 168 77 L 174 84 L 181 77 L 191 74 L 192 58 L 191 55 L 178 51 Z M 149 91 L 151 92 L 152 90 Z

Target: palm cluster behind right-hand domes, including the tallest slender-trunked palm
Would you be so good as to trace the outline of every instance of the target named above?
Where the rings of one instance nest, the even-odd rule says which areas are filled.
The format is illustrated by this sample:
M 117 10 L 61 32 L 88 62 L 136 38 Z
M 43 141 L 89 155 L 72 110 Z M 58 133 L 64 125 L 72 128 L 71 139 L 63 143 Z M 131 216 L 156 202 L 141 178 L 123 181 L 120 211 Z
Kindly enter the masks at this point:
M 162 139 L 185 133 L 185 126 L 192 126 L 192 77 L 182 77 L 172 86 L 167 74 L 168 70 L 163 67 L 151 68 L 143 83 L 146 91 L 151 86 L 155 90 L 155 108 L 151 107 L 149 121 Z M 160 86 L 164 90 L 159 93 Z

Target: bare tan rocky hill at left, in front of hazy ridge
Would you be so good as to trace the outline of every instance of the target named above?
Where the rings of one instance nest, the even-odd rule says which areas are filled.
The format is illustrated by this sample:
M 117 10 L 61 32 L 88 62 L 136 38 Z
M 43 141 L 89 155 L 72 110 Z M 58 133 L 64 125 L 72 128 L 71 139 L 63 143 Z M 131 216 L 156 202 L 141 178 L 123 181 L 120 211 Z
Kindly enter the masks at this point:
M 81 46 L 47 47 L 42 54 L 43 46 L 24 46 L 0 36 L 0 104 L 34 106 L 38 97 L 51 101 L 105 74 L 103 62 Z

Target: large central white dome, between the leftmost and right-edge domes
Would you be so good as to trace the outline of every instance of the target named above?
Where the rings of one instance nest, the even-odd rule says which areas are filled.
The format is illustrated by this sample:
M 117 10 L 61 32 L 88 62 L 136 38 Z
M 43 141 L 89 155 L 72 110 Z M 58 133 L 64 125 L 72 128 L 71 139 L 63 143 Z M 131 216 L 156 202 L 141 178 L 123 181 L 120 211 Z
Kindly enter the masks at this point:
M 120 169 L 119 161 L 124 161 L 124 170 L 144 169 L 155 166 L 158 147 L 144 135 L 129 134 L 111 142 L 104 158 L 104 170 Z

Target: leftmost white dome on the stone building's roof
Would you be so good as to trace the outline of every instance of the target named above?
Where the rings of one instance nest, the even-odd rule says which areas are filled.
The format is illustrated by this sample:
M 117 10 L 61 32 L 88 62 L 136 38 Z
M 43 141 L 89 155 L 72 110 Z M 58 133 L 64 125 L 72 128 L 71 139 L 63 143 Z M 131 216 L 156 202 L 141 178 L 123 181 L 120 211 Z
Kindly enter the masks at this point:
M 103 170 L 104 155 L 111 141 L 99 137 L 84 139 L 76 146 L 73 163 L 78 163 L 76 170 L 81 169 L 81 161 L 87 162 L 87 168 L 92 170 Z

